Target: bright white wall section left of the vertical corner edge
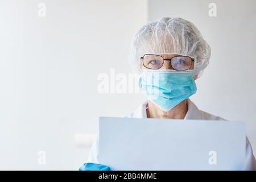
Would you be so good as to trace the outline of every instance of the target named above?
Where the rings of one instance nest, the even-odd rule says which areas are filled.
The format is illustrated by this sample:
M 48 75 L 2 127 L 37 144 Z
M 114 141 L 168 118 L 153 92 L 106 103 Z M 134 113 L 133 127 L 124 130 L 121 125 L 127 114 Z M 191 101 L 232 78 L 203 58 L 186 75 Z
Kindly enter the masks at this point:
M 125 115 L 143 100 L 99 94 L 97 76 L 130 72 L 130 42 L 146 18 L 146 0 L 0 1 L 0 169 L 85 162 L 90 146 L 76 147 L 74 134 L 96 134 L 98 117 Z

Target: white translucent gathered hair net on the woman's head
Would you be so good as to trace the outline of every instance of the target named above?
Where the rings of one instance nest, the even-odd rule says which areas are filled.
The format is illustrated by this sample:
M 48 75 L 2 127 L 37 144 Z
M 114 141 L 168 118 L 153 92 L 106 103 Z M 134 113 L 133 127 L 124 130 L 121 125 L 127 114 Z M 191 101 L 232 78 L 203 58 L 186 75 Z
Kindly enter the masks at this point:
M 183 55 L 195 59 L 194 76 L 200 77 L 209 64 L 210 47 L 196 26 L 182 18 L 160 18 L 145 24 L 134 36 L 130 64 L 137 70 L 146 54 Z

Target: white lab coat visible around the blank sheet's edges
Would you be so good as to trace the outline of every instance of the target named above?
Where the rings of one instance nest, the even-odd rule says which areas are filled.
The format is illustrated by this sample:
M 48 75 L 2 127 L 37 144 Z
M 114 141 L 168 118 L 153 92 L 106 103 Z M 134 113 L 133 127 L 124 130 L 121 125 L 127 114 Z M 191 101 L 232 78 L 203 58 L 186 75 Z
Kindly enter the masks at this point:
M 134 113 L 126 115 L 127 118 L 147 118 L 147 101 L 144 102 L 141 106 L 138 107 Z M 206 113 L 197 108 L 193 102 L 188 99 L 188 111 L 185 115 L 184 119 L 202 119 L 202 120 L 225 120 L 221 117 L 217 117 L 215 115 Z M 93 143 L 92 149 L 90 151 L 90 156 L 88 159 L 88 163 L 98 163 L 98 138 Z M 251 145 L 249 140 L 246 138 L 246 154 L 245 154 L 245 167 L 244 170 L 256 170 L 256 161 L 253 155 L 253 150 L 251 149 Z

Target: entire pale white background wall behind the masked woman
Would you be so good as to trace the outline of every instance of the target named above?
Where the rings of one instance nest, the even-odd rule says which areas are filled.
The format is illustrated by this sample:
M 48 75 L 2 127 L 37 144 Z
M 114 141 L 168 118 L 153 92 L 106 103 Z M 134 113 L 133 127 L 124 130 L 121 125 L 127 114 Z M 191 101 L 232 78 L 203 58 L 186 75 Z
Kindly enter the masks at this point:
M 130 73 L 133 35 L 161 16 L 191 20 L 204 35 L 212 57 L 192 100 L 201 110 L 246 121 L 255 151 L 256 2 L 214 1 L 217 17 L 209 17 L 210 2 L 0 0 L 0 169 L 79 168 L 98 117 L 121 117 L 145 99 L 98 93 L 98 75 L 111 68 Z M 81 133 L 85 139 L 75 140 Z M 45 165 L 38 151 L 46 152 Z

